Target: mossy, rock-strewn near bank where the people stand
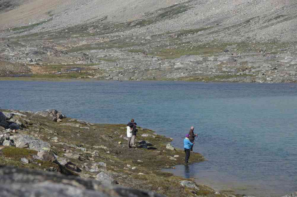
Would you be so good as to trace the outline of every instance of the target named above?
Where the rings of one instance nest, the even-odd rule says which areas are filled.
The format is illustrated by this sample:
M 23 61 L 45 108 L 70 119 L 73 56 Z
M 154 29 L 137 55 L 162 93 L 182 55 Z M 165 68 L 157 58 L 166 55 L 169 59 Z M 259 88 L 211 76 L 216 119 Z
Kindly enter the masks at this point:
M 138 147 L 128 149 L 125 125 L 92 124 L 66 118 L 56 110 L 1 111 L 0 165 L 4 166 L 0 167 L 0 185 L 4 196 L 20 188 L 26 190 L 25 196 L 36 194 L 38 188 L 47 194 L 57 185 L 64 196 L 71 196 L 67 190 L 73 188 L 77 196 L 160 196 L 154 192 L 212 196 L 216 192 L 193 180 L 161 172 L 162 168 L 182 164 L 184 153 L 170 145 L 170 138 L 149 129 L 139 127 Z M 193 161 L 203 161 L 203 156 L 194 153 Z

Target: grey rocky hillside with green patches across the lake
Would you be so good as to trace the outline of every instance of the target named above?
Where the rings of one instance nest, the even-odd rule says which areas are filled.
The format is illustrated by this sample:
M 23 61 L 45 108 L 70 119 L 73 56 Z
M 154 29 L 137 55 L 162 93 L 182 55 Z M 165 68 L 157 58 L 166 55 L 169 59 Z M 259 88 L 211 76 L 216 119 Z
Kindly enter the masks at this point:
M 295 1 L 2 1 L 0 76 L 297 81 Z

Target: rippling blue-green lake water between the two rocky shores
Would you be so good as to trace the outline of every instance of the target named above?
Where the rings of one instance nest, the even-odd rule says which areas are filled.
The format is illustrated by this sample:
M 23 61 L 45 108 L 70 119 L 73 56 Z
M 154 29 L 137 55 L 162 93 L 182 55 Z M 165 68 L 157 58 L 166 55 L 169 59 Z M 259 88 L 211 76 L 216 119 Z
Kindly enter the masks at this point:
M 0 81 L 0 108 L 55 108 L 95 123 L 124 123 L 174 138 L 208 160 L 167 170 L 216 190 L 255 196 L 297 191 L 297 84 L 181 81 Z M 191 160 L 191 157 L 190 157 Z

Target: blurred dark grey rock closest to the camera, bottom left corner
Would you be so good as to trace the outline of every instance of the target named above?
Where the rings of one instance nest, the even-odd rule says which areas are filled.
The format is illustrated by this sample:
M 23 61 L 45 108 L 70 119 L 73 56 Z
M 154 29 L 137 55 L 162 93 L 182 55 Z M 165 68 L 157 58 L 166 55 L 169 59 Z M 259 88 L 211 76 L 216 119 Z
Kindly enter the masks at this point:
M 154 192 L 103 185 L 94 180 L 8 166 L 0 166 L 0 177 L 1 197 L 162 196 Z

